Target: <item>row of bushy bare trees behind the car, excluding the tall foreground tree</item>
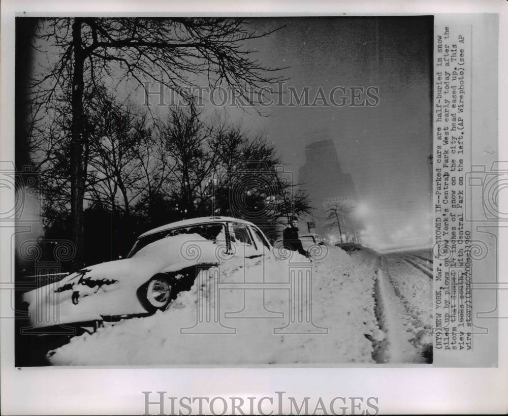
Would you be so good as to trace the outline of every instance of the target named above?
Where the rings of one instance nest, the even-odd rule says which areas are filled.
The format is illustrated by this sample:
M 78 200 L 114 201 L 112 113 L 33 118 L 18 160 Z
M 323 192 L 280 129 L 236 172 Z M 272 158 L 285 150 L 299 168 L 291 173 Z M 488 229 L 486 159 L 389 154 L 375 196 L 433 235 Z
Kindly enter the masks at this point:
M 70 135 L 65 106 L 59 110 L 52 134 L 33 147 L 41 179 L 42 241 L 72 239 Z M 85 111 L 85 264 L 125 257 L 141 233 L 181 219 L 249 219 L 275 238 L 280 222 L 310 211 L 306 194 L 283 171 L 273 146 L 217 114 L 207 118 L 193 105 L 169 107 L 158 120 L 105 88 L 95 91 Z M 52 246 L 41 244 L 51 257 Z

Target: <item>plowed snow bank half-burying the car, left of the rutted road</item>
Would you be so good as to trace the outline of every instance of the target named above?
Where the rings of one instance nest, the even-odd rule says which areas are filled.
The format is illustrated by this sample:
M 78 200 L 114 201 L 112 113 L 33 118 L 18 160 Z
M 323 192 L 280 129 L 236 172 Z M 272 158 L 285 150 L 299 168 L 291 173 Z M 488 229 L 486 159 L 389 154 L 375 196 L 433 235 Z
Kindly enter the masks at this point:
M 54 365 L 373 362 L 368 338 L 383 335 L 374 283 L 369 265 L 336 247 L 313 263 L 296 253 L 236 258 L 201 272 L 166 311 L 106 324 L 48 357 Z

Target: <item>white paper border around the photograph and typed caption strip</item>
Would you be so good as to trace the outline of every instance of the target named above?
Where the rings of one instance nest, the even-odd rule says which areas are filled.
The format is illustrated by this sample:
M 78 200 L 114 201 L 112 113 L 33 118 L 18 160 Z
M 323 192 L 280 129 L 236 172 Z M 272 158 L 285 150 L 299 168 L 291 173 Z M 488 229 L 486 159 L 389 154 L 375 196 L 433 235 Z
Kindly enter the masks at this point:
M 162 3 L 88 1 L 70 7 L 69 3 L 36 1 L 2 3 L 1 87 L 2 114 L 0 154 L 2 160 L 14 160 L 14 16 L 104 13 L 187 16 L 317 16 L 317 15 L 418 15 L 453 13 L 460 5 L 461 13 L 499 13 L 499 68 L 508 67 L 508 14 L 502 0 L 485 2 L 205 2 Z M 504 6 L 504 7 L 503 7 Z M 149 10 L 150 13 L 145 12 Z M 295 12 L 297 10 L 297 12 Z M 65 11 L 65 12 L 62 12 Z M 101 14 L 103 14 L 101 12 Z M 499 71 L 499 74 L 502 74 Z M 499 77 L 499 114 L 505 114 L 503 98 L 507 85 Z M 506 121 L 499 120 L 499 137 L 506 137 Z M 498 140 L 499 158 L 508 157 L 506 141 Z M 506 201 L 504 201 L 505 203 Z M 5 201 L 0 201 L 4 204 Z M 5 231 L 11 227 L 2 224 Z M 3 233 L 4 234 L 4 233 Z M 499 229 L 499 253 L 506 251 L 506 229 Z M 3 236 L 4 237 L 4 236 Z M 12 270 L 10 249 L 0 241 L 2 281 Z M 7 265 L 7 266 L 6 266 Z M 10 266 L 10 267 L 9 267 Z M 506 259 L 499 256 L 499 273 L 506 270 Z M 1 293 L 2 304 L 10 302 L 10 291 Z M 499 299 L 506 296 L 499 294 Z M 500 316 L 508 316 L 506 303 L 500 303 Z M 4 310 L 4 306 L 2 306 Z M 287 391 L 303 398 L 335 396 L 378 397 L 382 413 L 489 413 L 506 410 L 508 387 L 506 355 L 507 325 L 499 319 L 499 361 L 497 368 L 416 368 L 376 365 L 376 368 L 13 368 L 14 349 L 7 343 L 13 320 L 2 319 L 2 411 L 6 414 L 142 414 L 142 391 L 166 391 L 184 396 L 273 396 Z M 6 335 L 7 334 L 7 335 Z M 7 340 L 6 340 L 7 338 Z M 504 346 L 504 347 L 503 347 Z M 155 414 L 153 412 L 152 414 Z

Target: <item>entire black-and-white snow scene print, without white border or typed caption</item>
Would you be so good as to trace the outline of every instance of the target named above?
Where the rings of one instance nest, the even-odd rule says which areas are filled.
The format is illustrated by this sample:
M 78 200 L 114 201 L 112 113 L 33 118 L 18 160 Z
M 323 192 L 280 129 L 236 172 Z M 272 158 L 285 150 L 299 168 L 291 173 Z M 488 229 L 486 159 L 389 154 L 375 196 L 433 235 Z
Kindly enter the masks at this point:
M 432 363 L 432 34 L 17 18 L 16 366 Z

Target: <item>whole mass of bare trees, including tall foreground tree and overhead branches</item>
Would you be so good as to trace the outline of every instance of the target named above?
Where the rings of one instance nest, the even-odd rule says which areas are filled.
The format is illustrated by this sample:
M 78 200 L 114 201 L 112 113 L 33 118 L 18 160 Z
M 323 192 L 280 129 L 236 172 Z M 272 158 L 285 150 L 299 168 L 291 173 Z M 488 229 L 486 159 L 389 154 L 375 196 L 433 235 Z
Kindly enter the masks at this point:
M 220 18 L 17 25 L 17 66 L 29 70 L 17 96 L 24 122 L 16 140 L 40 177 L 44 253 L 44 241 L 68 239 L 75 247 L 69 267 L 78 268 L 125 255 L 140 233 L 183 218 L 231 215 L 270 232 L 280 218 L 309 211 L 263 137 L 205 118 L 189 94 L 200 82 L 229 86 L 256 108 L 252 97 L 282 79 L 283 69 L 251 55 L 250 42 L 270 33 Z M 186 105 L 163 119 L 143 111 L 129 97 L 146 81 Z

